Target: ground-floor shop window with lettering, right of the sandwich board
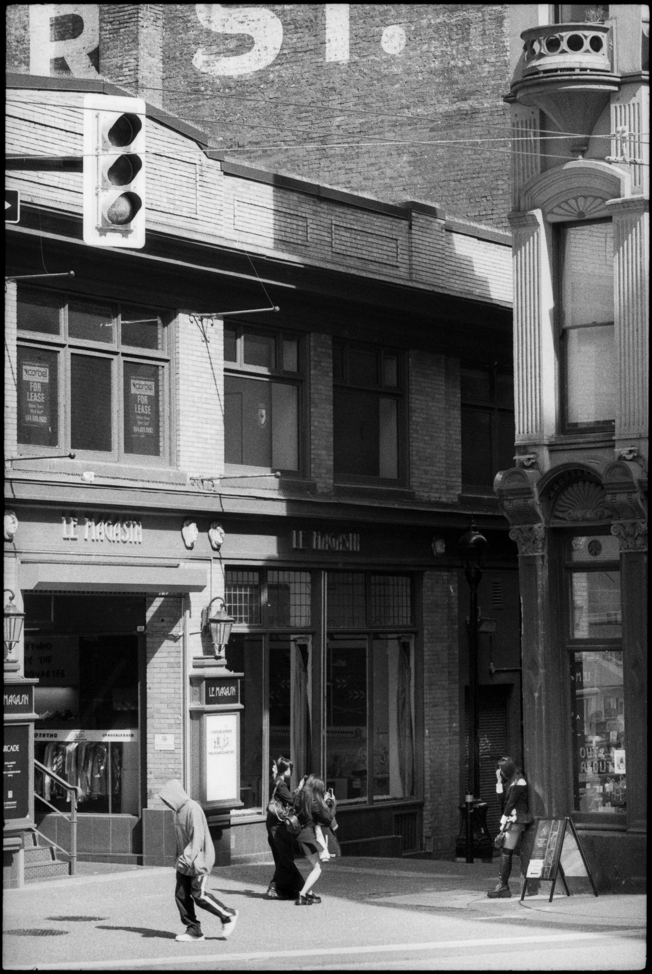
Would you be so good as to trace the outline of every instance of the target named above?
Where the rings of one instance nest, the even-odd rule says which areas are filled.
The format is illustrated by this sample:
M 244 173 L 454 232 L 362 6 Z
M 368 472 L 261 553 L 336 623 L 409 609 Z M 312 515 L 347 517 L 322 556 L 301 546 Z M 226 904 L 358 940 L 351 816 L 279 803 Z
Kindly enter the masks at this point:
M 623 654 L 574 653 L 575 810 L 616 814 L 627 807 Z

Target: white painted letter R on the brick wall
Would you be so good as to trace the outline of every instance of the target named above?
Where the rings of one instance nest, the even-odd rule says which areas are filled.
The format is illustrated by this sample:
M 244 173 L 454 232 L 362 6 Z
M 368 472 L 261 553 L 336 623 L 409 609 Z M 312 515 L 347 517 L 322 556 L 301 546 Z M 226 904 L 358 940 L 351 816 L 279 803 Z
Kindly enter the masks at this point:
M 98 70 L 98 4 L 29 4 L 30 74 L 96 78 Z

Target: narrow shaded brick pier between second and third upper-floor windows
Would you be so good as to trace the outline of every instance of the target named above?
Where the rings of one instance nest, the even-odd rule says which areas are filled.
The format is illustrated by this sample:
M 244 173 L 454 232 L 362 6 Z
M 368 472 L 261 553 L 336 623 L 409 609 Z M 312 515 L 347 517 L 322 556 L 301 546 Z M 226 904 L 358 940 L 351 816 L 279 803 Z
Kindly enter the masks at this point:
M 332 343 L 310 336 L 310 475 L 320 493 L 332 491 Z

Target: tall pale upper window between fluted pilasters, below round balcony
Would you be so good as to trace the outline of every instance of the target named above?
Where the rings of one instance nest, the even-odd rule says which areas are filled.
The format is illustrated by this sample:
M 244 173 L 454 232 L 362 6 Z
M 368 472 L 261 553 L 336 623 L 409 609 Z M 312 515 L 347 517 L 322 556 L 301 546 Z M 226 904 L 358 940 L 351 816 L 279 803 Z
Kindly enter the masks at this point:
M 558 317 L 565 430 L 613 430 L 616 415 L 613 225 L 558 230 Z

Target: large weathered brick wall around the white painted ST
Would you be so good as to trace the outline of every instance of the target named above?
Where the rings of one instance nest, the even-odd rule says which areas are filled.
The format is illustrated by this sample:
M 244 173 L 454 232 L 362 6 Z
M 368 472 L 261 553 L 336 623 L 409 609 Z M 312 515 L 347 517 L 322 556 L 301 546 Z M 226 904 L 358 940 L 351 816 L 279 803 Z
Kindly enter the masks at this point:
M 210 62 L 245 55 L 251 37 L 209 29 L 194 5 L 167 6 L 165 106 L 238 162 L 507 225 L 509 157 L 494 151 L 507 143 L 424 143 L 509 133 L 508 4 L 351 4 L 343 61 L 326 60 L 325 5 L 265 10 L 282 25 L 282 46 L 266 66 L 235 75 Z M 405 38 L 394 54 L 383 47 L 392 25 Z

